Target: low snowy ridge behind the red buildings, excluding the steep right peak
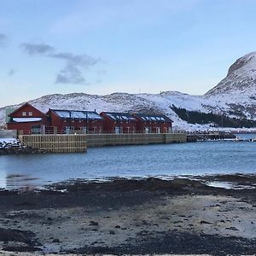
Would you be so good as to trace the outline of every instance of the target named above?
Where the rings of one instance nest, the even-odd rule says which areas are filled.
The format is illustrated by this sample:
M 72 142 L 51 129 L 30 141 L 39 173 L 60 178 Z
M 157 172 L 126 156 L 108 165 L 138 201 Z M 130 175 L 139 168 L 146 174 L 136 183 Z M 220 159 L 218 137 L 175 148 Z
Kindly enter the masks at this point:
M 172 105 L 177 108 L 210 112 L 217 102 L 212 102 L 205 96 L 190 96 L 177 91 L 166 91 L 160 94 L 113 93 L 106 96 L 85 93 L 54 94 L 42 96 L 29 101 L 29 103 L 44 113 L 49 108 L 96 110 L 98 113 L 102 111 L 125 112 L 129 110 L 144 113 L 165 113 L 174 121 L 177 129 L 187 129 L 186 121 L 178 118 L 177 114 L 172 110 Z M 22 104 L 0 108 L 0 124 L 4 123 L 6 108 L 18 108 Z M 196 127 L 199 129 L 200 125 L 196 125 Z

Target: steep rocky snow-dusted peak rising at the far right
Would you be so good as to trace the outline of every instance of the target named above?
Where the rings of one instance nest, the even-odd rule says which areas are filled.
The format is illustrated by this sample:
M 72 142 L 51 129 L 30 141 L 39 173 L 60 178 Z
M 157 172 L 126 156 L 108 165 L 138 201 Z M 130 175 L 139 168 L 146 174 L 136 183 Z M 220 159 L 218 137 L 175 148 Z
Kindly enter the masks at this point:
M 225 102 L 225 113 L 256 119 L 256 52 L 235 61 L 227 76 L 205 96 Z

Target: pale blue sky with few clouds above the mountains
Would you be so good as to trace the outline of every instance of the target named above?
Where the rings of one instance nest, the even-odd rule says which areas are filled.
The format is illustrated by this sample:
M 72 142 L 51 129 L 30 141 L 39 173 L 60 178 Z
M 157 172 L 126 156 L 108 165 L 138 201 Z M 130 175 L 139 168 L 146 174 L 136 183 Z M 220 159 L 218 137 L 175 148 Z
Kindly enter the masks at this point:
M 256 0 L 0 0 L 0 108 L 84 92 L 202 95 L 256 51 Z

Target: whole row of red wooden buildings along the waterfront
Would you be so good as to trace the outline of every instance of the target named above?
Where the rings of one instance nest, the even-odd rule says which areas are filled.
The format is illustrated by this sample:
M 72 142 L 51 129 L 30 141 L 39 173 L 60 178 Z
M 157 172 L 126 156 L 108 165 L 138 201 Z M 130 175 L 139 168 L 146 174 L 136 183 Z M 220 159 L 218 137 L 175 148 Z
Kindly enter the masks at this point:
M 9 113 L 9 130 L 44 133 L 168 133 L 172 120 L 163 114 L 116 113 L 50 109 L 42 113 L 25 103 Z

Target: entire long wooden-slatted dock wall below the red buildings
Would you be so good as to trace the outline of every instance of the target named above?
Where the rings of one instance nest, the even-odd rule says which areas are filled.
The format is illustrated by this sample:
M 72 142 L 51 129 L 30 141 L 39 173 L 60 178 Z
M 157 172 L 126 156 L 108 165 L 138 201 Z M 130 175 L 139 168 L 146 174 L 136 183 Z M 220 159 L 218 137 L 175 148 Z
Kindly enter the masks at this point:
M 20 135 L 20 142 L 51 153 L 86 152 L 87 147 L 186 143 L 185 133 Z

